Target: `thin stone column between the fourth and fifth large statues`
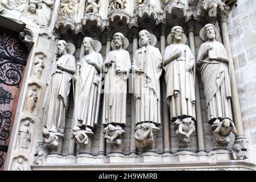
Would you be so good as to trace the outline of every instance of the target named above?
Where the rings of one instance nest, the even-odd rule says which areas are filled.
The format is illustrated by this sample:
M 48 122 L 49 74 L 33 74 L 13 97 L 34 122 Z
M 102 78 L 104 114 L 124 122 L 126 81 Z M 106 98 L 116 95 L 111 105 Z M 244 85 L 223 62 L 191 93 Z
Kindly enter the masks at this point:
M 160 36 L 160 51 L 162 56 L 164 55 L 164 50 L 166 49 L 166 27 L 162 24 L 161 28 L 161 36 Z M 163 78 L 162 80 L 162 96 L 163 96 L 163 133 L 164 133 L 164 141 L 163 141 L 163 152 L 171 152 L 171 143 L 170 143 L 170 126 L 169 126 L 169 111 L 168 105 L 166 102 L 166 82 Z

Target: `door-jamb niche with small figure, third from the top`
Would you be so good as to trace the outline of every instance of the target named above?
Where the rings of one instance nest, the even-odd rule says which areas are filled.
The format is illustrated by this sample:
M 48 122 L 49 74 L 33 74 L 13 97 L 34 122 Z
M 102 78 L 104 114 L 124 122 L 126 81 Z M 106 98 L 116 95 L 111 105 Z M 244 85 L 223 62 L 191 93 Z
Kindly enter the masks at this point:
M 24 118 L 20 120 L 19 133 L 16 142 L 16 148 L 18 150 L 30 150 L 34 130 L 35 122 L 32 121 L 32 119 Z

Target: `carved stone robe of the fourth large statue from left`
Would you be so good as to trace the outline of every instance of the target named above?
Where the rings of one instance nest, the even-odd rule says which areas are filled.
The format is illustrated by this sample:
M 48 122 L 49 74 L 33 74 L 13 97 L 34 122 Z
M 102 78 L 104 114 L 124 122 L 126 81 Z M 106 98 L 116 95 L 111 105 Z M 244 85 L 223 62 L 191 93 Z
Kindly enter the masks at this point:
M 160 81 L 162 74 L 162 55 L 153 46 L 139 48 L 133 57 L 133 92 L 135 96 L 136 123 L 161 123 Z M 139 75 L 134 68 L 144 71 Z

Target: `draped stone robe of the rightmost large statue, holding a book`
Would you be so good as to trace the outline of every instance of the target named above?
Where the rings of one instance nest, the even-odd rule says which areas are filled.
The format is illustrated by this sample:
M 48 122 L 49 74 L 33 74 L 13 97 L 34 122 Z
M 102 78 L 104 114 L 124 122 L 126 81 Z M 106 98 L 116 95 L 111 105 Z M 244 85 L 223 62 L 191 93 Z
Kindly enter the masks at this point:
M 232 120 L 231 87 L 228 65 L 218 60 L 209 60 L 208 57 L 204 60 L 200 60 L 200 56 L 207 46 L 213 46 L 213 50 L 218 57 L 228 59 L 228 54 L 223 44 L 216 40 L 214 40 L 214 42 L 201 44 L 199 49 L 197 64 L 200 66 L 201 77 L 204 84 L 208 121 L 217 118 L 229 118 Z

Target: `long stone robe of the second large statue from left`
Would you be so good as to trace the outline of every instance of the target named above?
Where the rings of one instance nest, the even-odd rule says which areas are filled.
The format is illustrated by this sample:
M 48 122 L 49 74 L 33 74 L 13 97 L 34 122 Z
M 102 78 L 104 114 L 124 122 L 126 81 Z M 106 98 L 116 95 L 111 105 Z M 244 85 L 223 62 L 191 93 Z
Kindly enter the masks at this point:
M 100 53 L 92 52 L 85 55 L 81 59 L 81 71 L 79 77 L 79 101 L 77 103 L 77 126 L 93 127 L 97 124 L 95 118 L 98 101 L 98 86 L 100 84 L 100 73 L 92 65 L 86 62 L 86 59 L 96 61 L 97 64 L 102 64 L 103 59 Z

